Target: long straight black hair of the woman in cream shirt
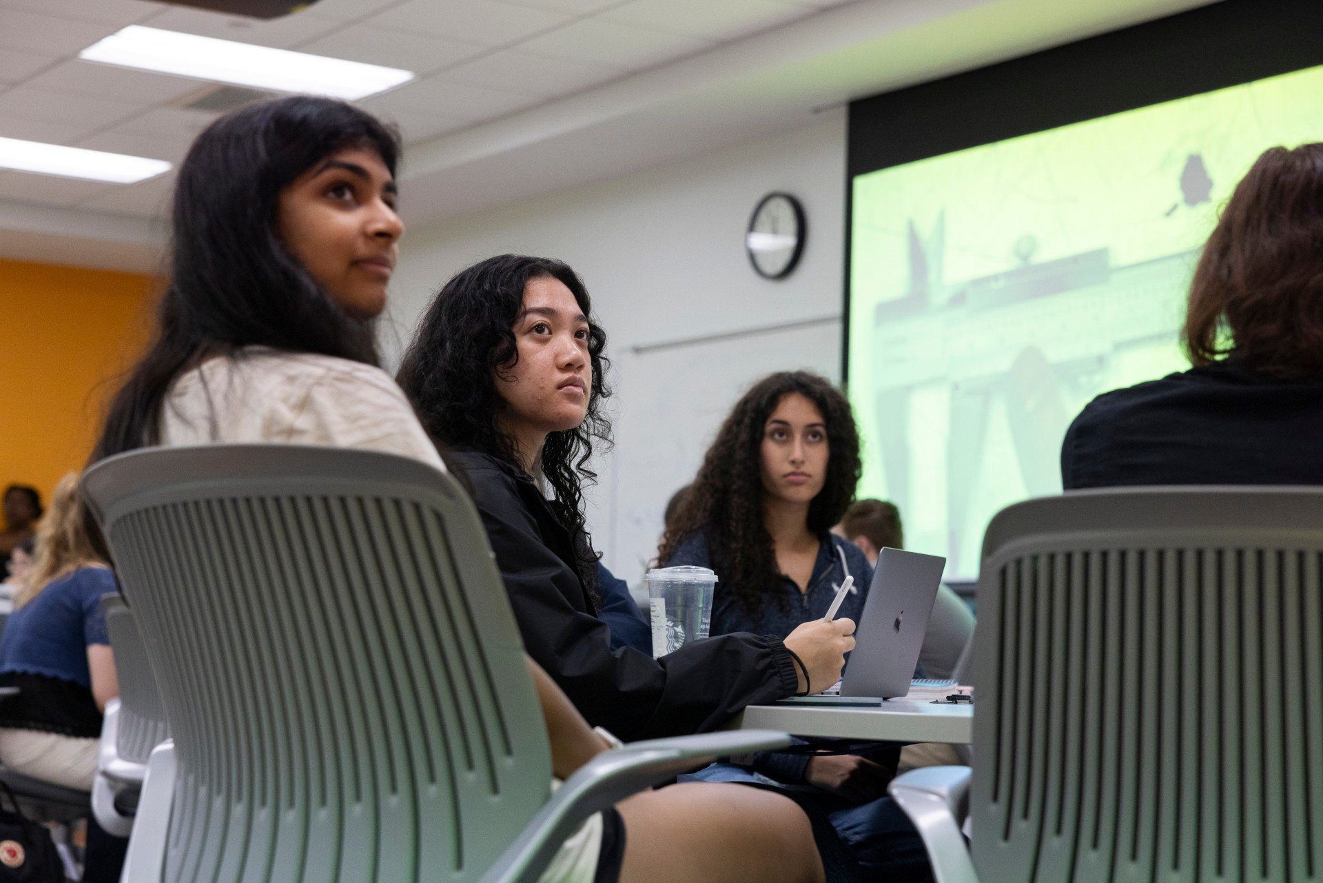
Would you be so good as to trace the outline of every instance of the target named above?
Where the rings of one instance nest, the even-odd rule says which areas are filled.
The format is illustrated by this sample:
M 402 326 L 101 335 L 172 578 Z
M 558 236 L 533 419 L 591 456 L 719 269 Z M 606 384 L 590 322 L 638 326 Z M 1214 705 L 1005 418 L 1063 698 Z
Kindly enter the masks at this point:
M 250 105 L 197 136 L 175 185 L 156 334 L 111 400 L 93 461 L 156 443 L 171 383 L 204 356 L 265 346 L 378 364 L 373 323 L 337 306 L 277 228 L 280 191 L 351 147 L 376 151 L 394 175 L 394 130 L 329 98 Z

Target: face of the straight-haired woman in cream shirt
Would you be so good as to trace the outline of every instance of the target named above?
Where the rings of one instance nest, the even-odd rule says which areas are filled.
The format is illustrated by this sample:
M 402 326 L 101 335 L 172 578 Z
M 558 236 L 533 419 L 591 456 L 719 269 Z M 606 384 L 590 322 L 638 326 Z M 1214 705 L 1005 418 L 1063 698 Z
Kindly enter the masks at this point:
M 405 225 L 396 183 L 376 151 L 336 151 L 280 191 L 280 240 L 340 307 L 372 319 L 386 307 L 386 283 Z

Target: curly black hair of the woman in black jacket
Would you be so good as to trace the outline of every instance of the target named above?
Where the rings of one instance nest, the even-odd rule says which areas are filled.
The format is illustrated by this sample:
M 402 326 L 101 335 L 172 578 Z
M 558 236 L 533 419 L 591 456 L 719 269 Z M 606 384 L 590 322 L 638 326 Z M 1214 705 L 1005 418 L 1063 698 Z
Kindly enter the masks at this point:
M 583 487 L 597 482 L 587 465 L 594 442 L 611 443 L 611 424 L 602 412 L 611 395 L 610 361 L 602 355 L 606 332 L 593 318 L 593 302 L 578 274 L 561 261 L 524 254 L 499 254 L 462 270 L 423 314 L 397 380 L 434 440 L 474 447 L 523 470 L 515 438 L 500 428 L 504 400 L 495 379 L 519 360 L 513 327 L 524 310 L 524 286 L 541 278 L 562 282 L 589 316 L 593 389 L 587 414 L 577 428 L 548 434 L 538 462 L 554 494 L 552 510 L 574 537 L 578 576 L 597 601 L 601 555 L 587 531 Z

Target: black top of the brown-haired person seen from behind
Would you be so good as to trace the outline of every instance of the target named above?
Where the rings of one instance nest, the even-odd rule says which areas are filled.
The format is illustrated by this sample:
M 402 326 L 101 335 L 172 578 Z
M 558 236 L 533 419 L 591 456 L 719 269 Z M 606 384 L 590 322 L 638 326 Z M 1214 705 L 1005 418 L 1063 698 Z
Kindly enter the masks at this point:
M 1061 443 L 1061 485 L 1323 485 L 1323 383 L 1236 359 L 1094 398 Z

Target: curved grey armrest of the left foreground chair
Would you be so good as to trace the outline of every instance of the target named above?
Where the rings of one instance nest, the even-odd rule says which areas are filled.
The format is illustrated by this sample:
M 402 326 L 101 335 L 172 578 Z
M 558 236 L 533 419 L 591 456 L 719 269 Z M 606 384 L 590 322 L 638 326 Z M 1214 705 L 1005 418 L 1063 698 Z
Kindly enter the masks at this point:
M 606 751 L 557 789 L 524 833 L 487 870 L 482 883 L 536 883 L 561 843 L 594 813 L 726 755 L 775 751 L 790 736 L 769 729 L 651 739 Z

